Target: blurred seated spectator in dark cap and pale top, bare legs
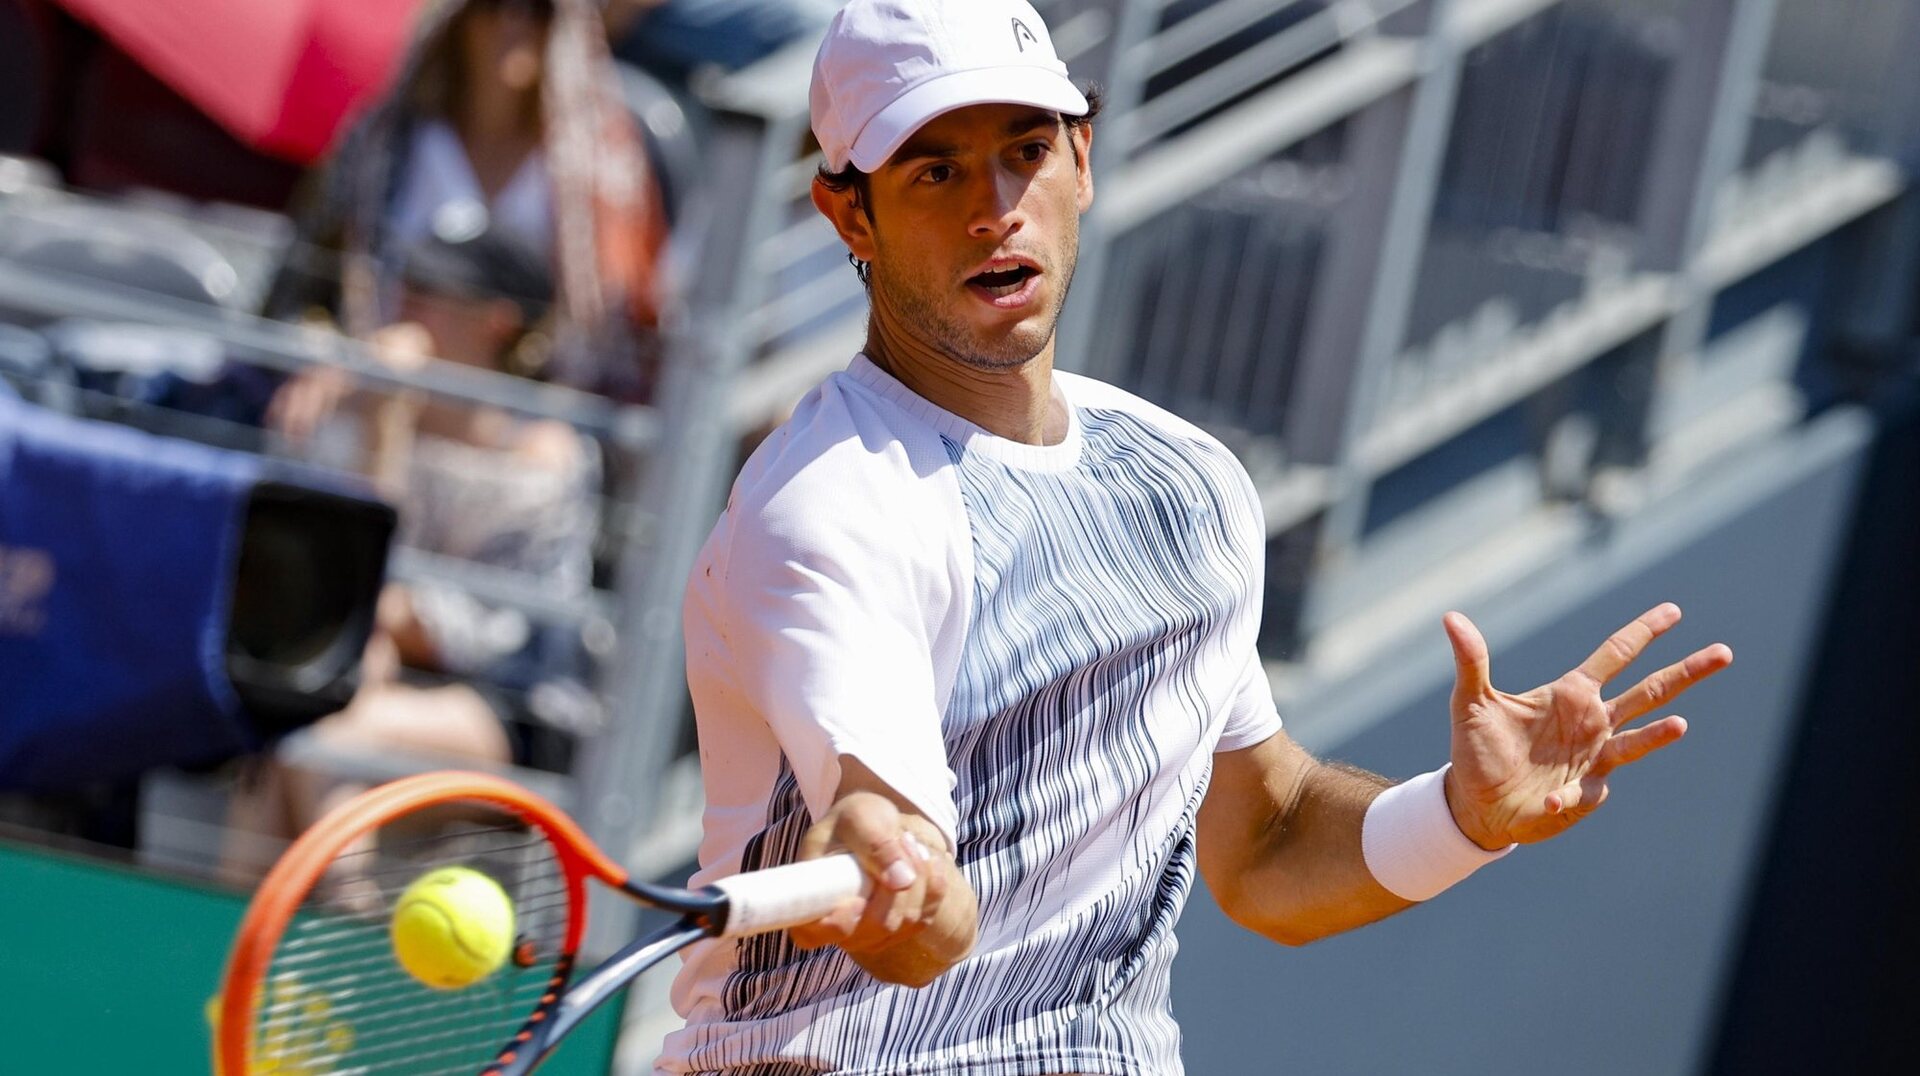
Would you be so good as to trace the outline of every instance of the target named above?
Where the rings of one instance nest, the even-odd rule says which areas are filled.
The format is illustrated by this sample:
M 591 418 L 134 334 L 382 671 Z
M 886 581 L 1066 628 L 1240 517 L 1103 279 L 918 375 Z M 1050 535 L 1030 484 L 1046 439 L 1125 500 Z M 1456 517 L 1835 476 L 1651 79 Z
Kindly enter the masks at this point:
M 547 261 L 503 231 L 438 229 L 401 257 L 397 321 L 372 334 L 382 361 L 538 375 L 551 348 Z M 346 432 L 361 467 L 401 503 L 401 544 L 584 596 L 599 526 L 601 459 L 559 421 L 357 390 L 332 367 L 288 382 L 269 421 L 313 444 Z M 336 438 L 338 444 L 340 438 Z M 593 721 L 578 632 L 543 626 L 438 584 L 388 584 L 351 705 L 313 736 L 357 753 L 518 763 L 564 770 L 572 730 Z M 351 792 L 269 761 L 234 803 L 240 842 L 290 838 Z M 230 849 L 236 870 L 255 861 Z

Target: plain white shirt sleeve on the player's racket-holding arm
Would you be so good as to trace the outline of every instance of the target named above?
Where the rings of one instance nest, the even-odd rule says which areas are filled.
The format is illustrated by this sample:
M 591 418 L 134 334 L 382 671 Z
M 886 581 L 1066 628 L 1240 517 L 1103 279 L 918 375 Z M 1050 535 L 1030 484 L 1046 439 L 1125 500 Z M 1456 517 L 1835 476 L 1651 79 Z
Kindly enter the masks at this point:
M 937 672 L 956 613 L 948 542 L 925 480 L 868 448 L 829 444 L 747 477 L 697 582 L 735 697 L 780 742 L 812 817 L 852 755 L 954 845 L 950 676 Z

